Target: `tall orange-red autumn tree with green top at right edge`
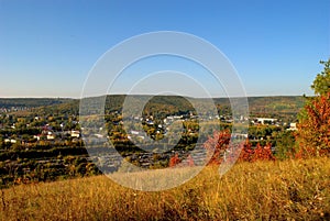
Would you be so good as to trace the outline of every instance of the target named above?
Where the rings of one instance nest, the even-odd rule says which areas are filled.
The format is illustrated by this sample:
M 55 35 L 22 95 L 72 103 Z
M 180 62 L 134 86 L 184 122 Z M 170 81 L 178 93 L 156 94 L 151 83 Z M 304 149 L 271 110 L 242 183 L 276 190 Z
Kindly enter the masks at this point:
M 311 98 L 299 115 L 297 125 L 298 157 L 330 153 L 330 59 L 321 62 L 323 70 L 317 75 Z

